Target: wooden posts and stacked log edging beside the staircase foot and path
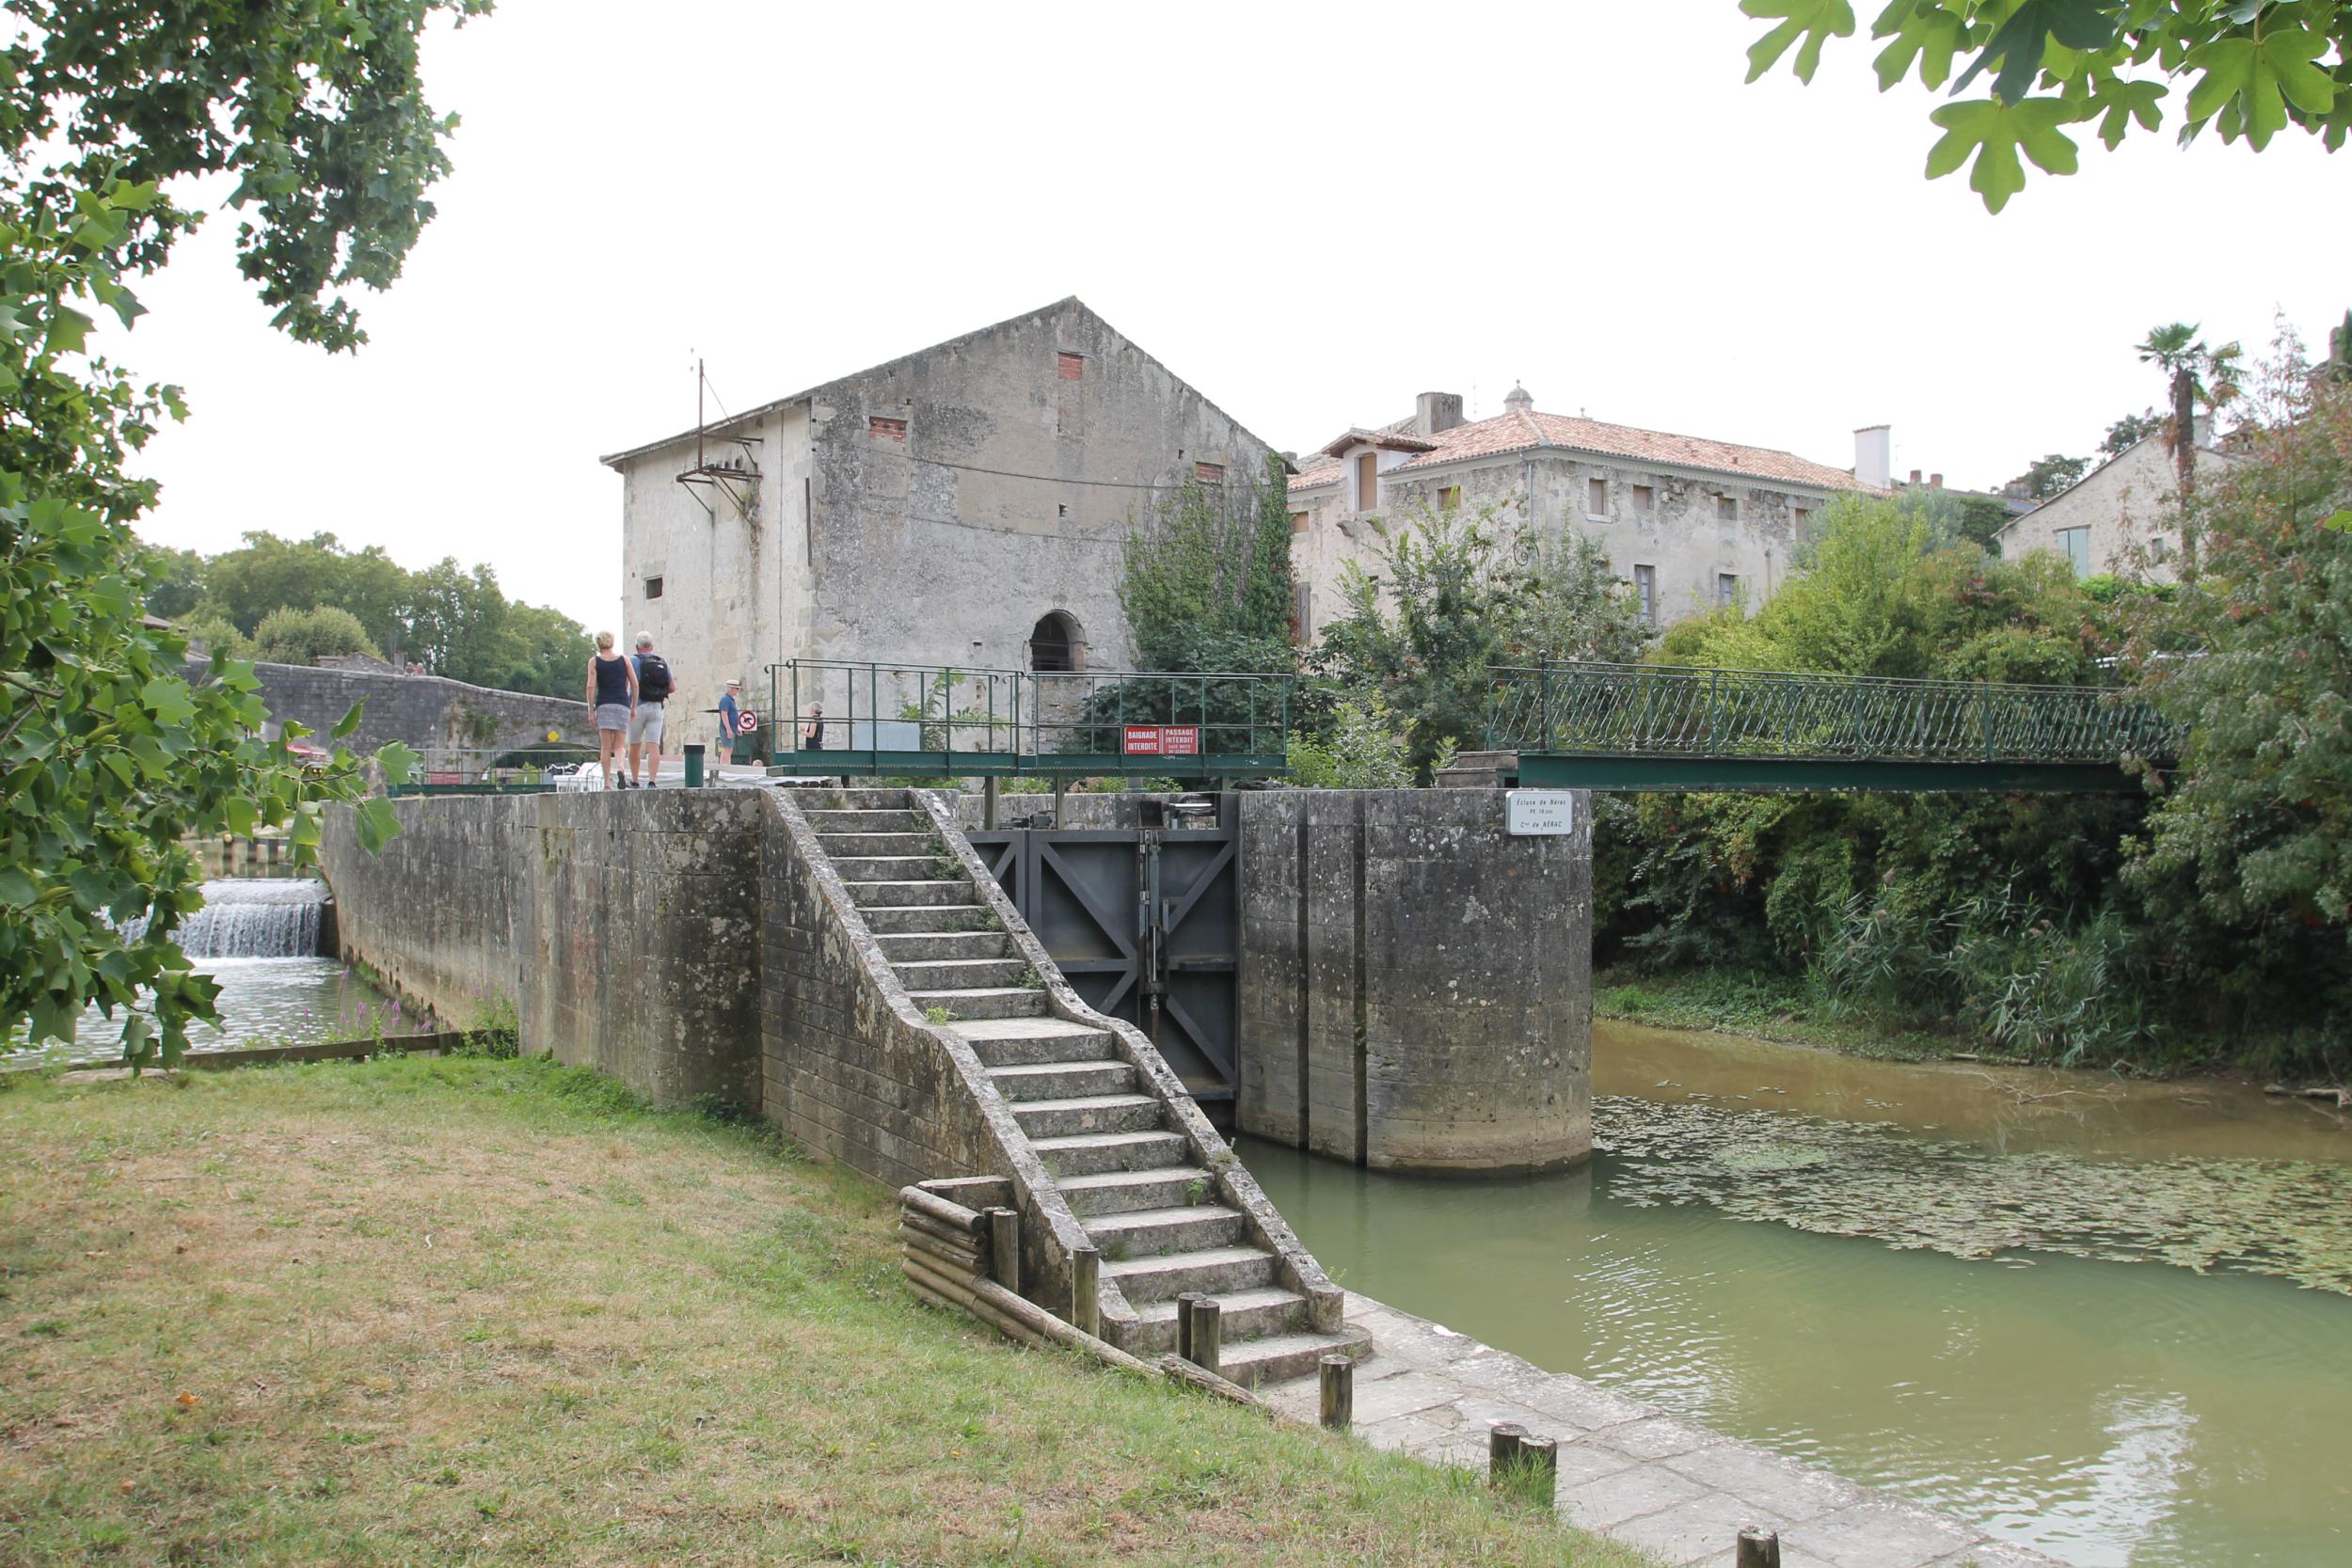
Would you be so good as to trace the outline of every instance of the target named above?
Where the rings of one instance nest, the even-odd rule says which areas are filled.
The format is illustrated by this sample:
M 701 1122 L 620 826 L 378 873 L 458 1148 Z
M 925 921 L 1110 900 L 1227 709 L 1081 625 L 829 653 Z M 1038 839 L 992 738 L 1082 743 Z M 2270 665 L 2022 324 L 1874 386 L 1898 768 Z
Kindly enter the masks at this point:
M 969 1312 L 1023 1345 L 1080 1349 L 1105 1366 L 1169 1378 L 1272 1415 L 1272 1406 L 1218 1371 L 1223 1309 L 1204 1291 L 1176 1298 L 1176 1354 L 1157 1361 L 1098 1338 L 1103 1260 L 1091 1246 L 1070 1255 L 1068 1319 L 1021 1295 L 1021 1213 L 1011 1208 L 1011 1182 L 1002 1175 L 901 1187 L 898 1244 L 906 1281 L 920 1300 Z M 1322 1427 L 1348 1432 L 1355 1425 L 1355 1361 L 1324 1356 L 1319 1371 Z M 1486 1483 L 1550 1507 L 1559 1483 L 1559 1439 L 1536 1436 L 1519 1422 L 1496 1422 L 1486 1434 Z M 1780 1568 L 1780 1537 L 1740 1530 L 1736 1568 Z

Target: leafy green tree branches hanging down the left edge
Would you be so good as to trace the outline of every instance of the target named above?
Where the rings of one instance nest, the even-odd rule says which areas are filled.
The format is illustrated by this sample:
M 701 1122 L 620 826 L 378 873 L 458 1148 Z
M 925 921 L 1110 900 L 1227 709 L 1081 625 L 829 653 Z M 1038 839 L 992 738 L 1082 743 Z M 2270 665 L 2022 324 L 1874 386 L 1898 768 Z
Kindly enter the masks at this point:
M 186 559 L 132 534 L 155 501 L 129 473 L 179 388 L 87 353 L 96 310 L 129 324 L 125 273 L 165 261 L 198 212 L 162 193 L 238 176 L 240 263 L 296 339 L 350 348 L 339 289 L 381 287 L 430 216 L 447 122 L 416 89 L 440 0 L 129 5 L 26 0 L 0 52 L 0 1034 L 71 1039 L 120 1020 L 132 1063 L 176 1060 L 216 987 L 172 940 L 200 900 L 186 835 L 285 823 L 355 799 L 360 759 L 261 738 L 249 665 L 188 679 L 186 639 L 143 621 Z M 179 186 L 174 186 L 179 188 Z M 397 780 L 402 757 L 379 757 Z M 374 813 L 374 837 L 388 827 Z

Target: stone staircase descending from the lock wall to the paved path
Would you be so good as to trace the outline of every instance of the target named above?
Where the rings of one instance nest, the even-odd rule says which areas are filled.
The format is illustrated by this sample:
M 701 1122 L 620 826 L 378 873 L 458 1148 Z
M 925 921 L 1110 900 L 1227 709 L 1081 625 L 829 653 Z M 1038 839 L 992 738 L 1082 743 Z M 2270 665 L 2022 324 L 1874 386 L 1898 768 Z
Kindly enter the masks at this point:
M 1049 976 L 1018 954 L 906 790 L 795 790 L 793 802 L 908 999 L 971 1044 L 1101 1251 L 1103 1284 L 1131 1309 L 1103 1314 L 1108 1340 L 1141 1356 L 1174 1352 L 1176 1298 L 1200 1291 L 1221 1309 L 1218 1371 L 1244 1387 L 1303 1378 L 1331 1352 L 1369 1354 L 1359 1328 L 1310 1326 L 1305 1295 L 1282 1284 L 1282 1260 L 1221 1199 L 1117 1037 L 1054 1016 Z M 1223 1164 L 1230 1152 L 1218 1143 L 1207 1157 Z

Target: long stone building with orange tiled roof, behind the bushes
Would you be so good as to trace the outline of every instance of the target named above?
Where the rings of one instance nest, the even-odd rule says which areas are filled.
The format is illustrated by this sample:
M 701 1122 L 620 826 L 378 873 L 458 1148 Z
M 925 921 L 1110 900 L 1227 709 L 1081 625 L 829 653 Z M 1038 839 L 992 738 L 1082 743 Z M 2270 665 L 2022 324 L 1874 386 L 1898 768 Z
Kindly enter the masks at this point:
M 1856 430 L 1856 468 L 1792 451 L 1543 414 L 1512 388 L 1494 418 L 1465 421 L 1458 393 L 1423 393 L 1414 414 L 1350 428 L 1291 477 L 1298 637 L 1341 614 L 1348 562 L 1378 576 L 1381 550 L 1421 515 L 1486 505 L 1510 527 L 1602 543 L 1646 618 L 1762 604 L 1830 496 L 1884 489 L 1886 425 Z M 1856 477 L 1860 475 L 1860 477 Z

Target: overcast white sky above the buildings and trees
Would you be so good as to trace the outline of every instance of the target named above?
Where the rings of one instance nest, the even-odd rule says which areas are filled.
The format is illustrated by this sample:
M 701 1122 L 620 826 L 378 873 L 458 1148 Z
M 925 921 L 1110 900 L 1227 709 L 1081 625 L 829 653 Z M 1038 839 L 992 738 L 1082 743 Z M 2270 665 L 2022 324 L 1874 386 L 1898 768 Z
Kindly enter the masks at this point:
M 2197 320 L 2321 348 L 2352 306 L 2352 158 L 2171 127 L 1987 216 L 1929 183 L 1867 40 L 1745 87 L 1766 24 L 1644 5 L 501 0 L 426 52 L 463 115 L 374 343 L 282 341 L 233 219 L 113 353 L 195 416 L 151 449 L 160 543 L 245 529 L 487 559 L 614 625 L 597 454 L 1082 296 L 1275 447 L 1418 390 L 1997 484 L 2157 400 Z M 616 628 L 623 630 L 623 628 Z

